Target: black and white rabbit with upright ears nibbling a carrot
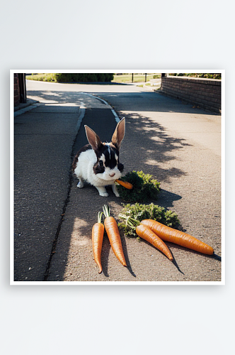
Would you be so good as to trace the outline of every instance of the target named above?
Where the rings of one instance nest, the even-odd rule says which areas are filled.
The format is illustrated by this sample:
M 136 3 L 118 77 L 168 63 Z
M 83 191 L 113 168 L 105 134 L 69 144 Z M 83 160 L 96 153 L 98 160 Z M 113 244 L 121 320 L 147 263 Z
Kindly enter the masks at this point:
M 95 186 L 101 196 L 107 197 L 105 185 L 112 185 L 115 196 L 119 197 L 115 180 L 122 176 L 124 166 L 119 162 L 119 149 L 125 136 L 125 118 L 118 122 L 110 143 L 102 143 L 98 135 L 88 126 L 87 144 L 76 153 L 72 170 L 79 183 L 77 187 L 84 187 L 84 181 Z

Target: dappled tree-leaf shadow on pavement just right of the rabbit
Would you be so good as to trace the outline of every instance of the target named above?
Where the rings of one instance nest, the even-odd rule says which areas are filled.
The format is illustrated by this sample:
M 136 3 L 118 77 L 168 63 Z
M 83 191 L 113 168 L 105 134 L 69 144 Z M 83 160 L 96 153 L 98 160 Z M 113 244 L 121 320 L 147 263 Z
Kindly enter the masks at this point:
M 159 182 L 169 181 L 187 173 L 178 168 L 162 168 L 163 163 L 176 159 L 175 151 L 189 146 L 183 138 L 169 136 L 166 129 L 142 114 L 127 114 L 125 141 L 120 156 L 125 171 L 142 170 Z M 160 166 L 161 165 L 161 166 Z

